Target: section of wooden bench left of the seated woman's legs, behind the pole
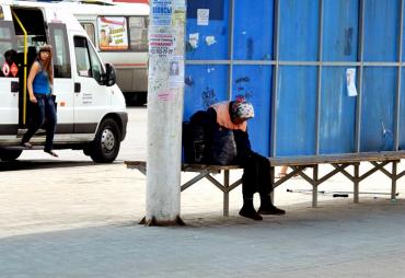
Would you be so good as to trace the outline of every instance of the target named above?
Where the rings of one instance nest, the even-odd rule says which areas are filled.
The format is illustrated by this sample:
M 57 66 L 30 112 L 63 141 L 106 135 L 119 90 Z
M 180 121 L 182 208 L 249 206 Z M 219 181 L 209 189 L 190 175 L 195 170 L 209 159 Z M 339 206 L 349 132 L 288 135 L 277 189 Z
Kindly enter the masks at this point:
M 137 169 L 142 174 L 147 174 L 147 162 L 144 161 L 125 161 L 125 164 L 128 169 Z M 242 184 L 242 178 L 230 184 L 230 171 L 231 170 L 241 170 L 239 165 L 207 165 L 207 164 L 182 164 L 183 172 L 195 172 L 197 173 L 188 182 L 182 184 L 181 192 L 187 189 L 198 181 L 206 178 L 211 182 L 215 186 L 218 187 L 223 193 L 223 216 L 229 216 L 229 193 Z M 223 171 L 223 182 L 219 182 L 213 177 L 213 174 L 220 174 Z

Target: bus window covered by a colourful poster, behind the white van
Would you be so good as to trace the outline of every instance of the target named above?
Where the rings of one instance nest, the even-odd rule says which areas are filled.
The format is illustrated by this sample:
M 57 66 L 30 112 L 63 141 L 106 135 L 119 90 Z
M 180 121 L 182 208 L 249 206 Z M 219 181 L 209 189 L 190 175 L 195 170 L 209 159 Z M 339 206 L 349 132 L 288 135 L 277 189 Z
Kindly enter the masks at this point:
M 97 19 L 99 47 L 101 50 L 127 50 L 127 19 L 100 16 Z

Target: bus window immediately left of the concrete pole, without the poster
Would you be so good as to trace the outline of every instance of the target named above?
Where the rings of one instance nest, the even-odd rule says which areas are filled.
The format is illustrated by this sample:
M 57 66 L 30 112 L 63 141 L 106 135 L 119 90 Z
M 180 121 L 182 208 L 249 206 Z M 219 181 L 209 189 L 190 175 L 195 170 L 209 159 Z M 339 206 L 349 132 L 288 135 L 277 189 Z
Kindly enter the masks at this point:
M 148 18 L 129 18 L 130 48 L 135 51 L 148 51 Z

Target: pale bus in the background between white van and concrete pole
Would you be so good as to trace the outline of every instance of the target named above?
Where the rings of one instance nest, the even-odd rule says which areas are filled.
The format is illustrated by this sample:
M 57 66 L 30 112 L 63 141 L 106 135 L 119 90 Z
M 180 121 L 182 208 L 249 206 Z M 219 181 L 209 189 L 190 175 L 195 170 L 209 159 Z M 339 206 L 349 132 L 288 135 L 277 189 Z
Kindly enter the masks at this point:
M 79 20 L 100 56 L 114 66 L 128 104 L 144 104 L 148 91 L 149 5 L 60 2 Z

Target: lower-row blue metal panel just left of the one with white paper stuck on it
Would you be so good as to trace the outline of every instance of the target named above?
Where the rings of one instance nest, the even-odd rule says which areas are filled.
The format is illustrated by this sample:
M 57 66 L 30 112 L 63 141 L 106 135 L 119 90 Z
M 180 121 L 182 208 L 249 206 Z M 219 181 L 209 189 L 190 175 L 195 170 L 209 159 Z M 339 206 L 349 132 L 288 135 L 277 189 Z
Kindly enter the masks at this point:
M 278 79 L 277 155 L 314 155 L 316 68 L 284 66 Z

